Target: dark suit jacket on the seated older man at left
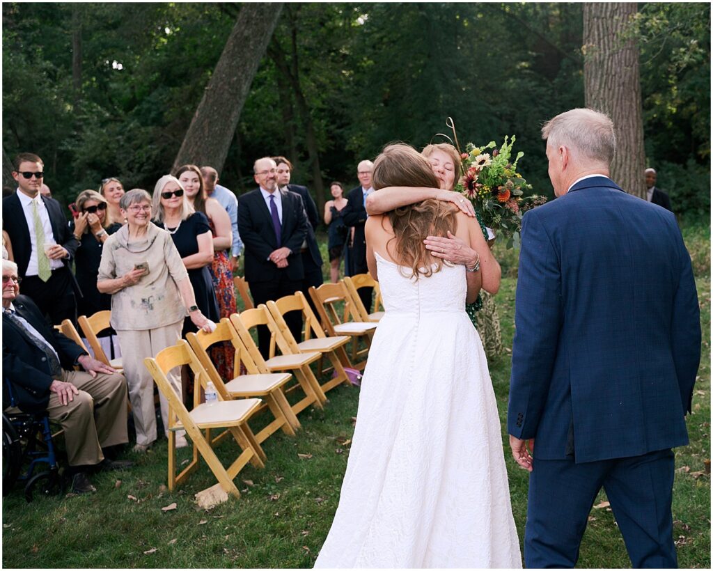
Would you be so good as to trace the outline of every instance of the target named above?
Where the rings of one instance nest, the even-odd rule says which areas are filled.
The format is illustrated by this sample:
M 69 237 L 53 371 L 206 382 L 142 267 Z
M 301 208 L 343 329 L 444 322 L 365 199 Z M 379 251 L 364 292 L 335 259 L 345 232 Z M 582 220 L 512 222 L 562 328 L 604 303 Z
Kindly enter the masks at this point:
M 53 346 L 62 369 L 71 370 L 78 356 L 86 354 L 74 341 L 49 325 L 29 297 L 19 295 L 13 304 L 17 313 Z M 36 341 L 7 319 L 5 314 L 2 318 L 2 370 L 4 379 L 12 386 L 16 406 L 25 412 L 46 410 L 49 386 L 54 380 L 47 357 Z M 2 403 L 3 408 L 10 406 L 6 384 L 3 384 Z

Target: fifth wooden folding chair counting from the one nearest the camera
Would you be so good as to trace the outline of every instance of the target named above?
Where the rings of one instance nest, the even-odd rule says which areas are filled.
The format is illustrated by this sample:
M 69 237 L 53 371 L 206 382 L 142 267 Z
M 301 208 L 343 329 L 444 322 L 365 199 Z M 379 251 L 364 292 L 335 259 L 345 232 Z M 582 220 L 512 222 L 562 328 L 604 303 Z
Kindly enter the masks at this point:
M 324 331 L 330 337 L 348 335 L 352 338 L 350 360 L 354 369 L 363 371 L 366 366 L 366 355 L 371 346 L 371 338 L 374 336 L 377 324 L 363 321 L 344 281 L 336 284 L 322 284 L 317 289 L 310 287 L 309 295 L 312 296 L 314 306 L 317 307 Z M 341 315 L 337 304 L 343 304 Z M 359 340 L 362 339 L 366 348 L 359 351 Z M 357 362 L 361 358 L 364 358 L 364 361 Z

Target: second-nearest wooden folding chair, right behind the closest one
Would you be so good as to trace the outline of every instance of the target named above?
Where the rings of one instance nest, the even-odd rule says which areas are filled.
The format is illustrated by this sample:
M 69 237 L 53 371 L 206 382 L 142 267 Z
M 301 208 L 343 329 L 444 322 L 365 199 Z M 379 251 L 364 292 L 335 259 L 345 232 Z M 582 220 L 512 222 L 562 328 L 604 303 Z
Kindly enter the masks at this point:
M 248 354 L 245 345 L 242 343 L 235 328 L 230 324 L 230 319 L 223 317 L 220 323 L 217 324 L 215 331 L 206 333 L 198 331 L 198 333 L 186 334 L 186 339 L 191 348 L 198 357 L 198 361 L 203 369 L 208 374 L 208 378 L 213 381 L 215 389 L 220 393 L 223 400 L 230 401 L 235 398 L 265 398 L 267 408 L 270 408 L 272 416 L 275 417 L 270 424 L 265 426 L 260 432 L 255 435 L 257 441 L 262 443 L 277 432 L 280 428 L 289 436 L 294 436 L 294 431 L 299 428 L 299 421 L 295 416 L 294 411 L 289 406 L 287 398 L 284 396 L 284 385 L 292 379 L 289 373 L 268 373 L 262 374 L 257 370 L 255 361 Z M 220 341 L 229 341 L 235 347 L 235 366 L 233 370 L 233 378 L 227 383 L 220 378 L 215 365 L 208 356 L 208 349 L 215 343 Z M 245 366 L 247 374 L 240 374 L 240 366 Z M 264 408 L 265 405 L 260 408 Z M 224 433 L 225 434 L 225 433 Z

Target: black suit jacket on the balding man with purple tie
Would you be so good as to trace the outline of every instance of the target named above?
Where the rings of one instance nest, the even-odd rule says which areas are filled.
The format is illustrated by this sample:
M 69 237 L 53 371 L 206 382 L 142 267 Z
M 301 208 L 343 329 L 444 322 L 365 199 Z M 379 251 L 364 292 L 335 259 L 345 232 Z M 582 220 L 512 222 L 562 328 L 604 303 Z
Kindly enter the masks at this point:
M 289 279 L 304 279 L 299 250 L 307 237 L 307 215 L 302 197 L 289 190 L 277 190 L 282 195 L 282 244 L 277 244 L 270 210 L 260 188 L 238 197 L 237 229 L 245 244 L 245 279 L 247 282 L 269 282 L 287 275 Z M 280 269 L 270 262 L 270 254 L 284 246 L 292 250 L 288 266 Z M 284 272 L 284 273 L 282 273 Z

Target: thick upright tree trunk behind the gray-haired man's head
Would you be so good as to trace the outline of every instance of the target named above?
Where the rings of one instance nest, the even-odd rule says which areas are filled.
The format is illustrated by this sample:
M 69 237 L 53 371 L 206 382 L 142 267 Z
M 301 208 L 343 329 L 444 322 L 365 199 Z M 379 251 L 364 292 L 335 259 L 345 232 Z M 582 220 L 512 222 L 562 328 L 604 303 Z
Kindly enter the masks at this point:
M 612 180 L 644 198 L 645 153 L 639 51 L 632 34 L 637 4 L 583 4 L 585 105 L 607 113 L 617 134 Z

